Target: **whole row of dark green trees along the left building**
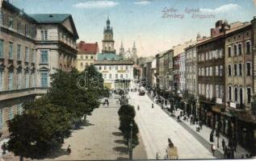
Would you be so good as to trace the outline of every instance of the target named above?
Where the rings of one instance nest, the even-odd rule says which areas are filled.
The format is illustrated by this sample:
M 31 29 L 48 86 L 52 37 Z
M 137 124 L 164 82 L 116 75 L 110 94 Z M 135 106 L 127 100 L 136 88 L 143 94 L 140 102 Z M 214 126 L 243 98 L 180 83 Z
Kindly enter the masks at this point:
M 79 82 L 82 86 L 94 85 L 94 79 L 97 79 L 97 88 L 79 89 L 78 80 L 81 77 L 84 80 Z M 16 115 L 8 122 L 8 150 L 21 159 L 44 157 L 53 148 L 61 146 L 81 118 L 99 107 L 99 97 L 103 94 L 106 94 L 103 77 L 93 65 L 83 72 L 76 69 L 70 72 L 57 70 L 51 75 L 48 93 L 24 103 L 23 114 Z

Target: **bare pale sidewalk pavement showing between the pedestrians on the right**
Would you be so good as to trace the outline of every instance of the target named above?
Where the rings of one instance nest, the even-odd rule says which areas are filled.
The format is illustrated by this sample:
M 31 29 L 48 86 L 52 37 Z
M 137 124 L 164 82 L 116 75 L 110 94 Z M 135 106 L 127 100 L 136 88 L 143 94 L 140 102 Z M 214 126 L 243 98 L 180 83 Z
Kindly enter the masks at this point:
M 150 97 L 150 99 L 152 99 L 153 100 L 153 97 L 151 97 L 149 94 L 148 94 L 148 96 Z M 170 105 L 170 103 L 169 103 L 169 101 L 168 101 L 168 105 Z M 167 106 L 168 106 L 167 105 Z M 164 106 L 165 108 L 163 109 L 163 110 L 165 110 L 166 111 L 166 113 L 169 113 L 168 111 L 167 111 L 167 107 L 166 106 Z M 177 116 L 180 114 L 180 111 L 182 111 L 181 109 L 177 109 L 176 111 L 174 111 L 174 116 L 175 116 L 175 118 L 177 118 Z M 211 131 L 212 131 L 212 129 L 211 128 L 209 128 L 208 126 L 204 126 L 203 125 L 203 128 L 202 128 L 202 130 L 200 130 L 199 132 L 197 132 L 196 130 L 195 130 L 195 126 L 196 125 L 191 125 L 190 124 L 190 122 L 188 121 L 188 119 L 187 119 L 187 121 L 183 121 L 182 119 L 181 119 L 181 122 L 183 122 L 184 123 L 184 125 L 186 125 L 187 127 L 189 127 L 191 130 L 193 130 L 196 134 L 198 134 L 201 138 L 204 138 L 204 140 L 206 141 L 206 142 L 208 142 L 209 144 L 212 144 L 212 142 L 210 142 L 210 140 L 209 140 L 209 138 L 210 138 L 210 133 L 211 133 Z M 186 129 L 186 128 L 185 128 Z M 194 133 L 194 134 L 195 134 Z M 221 141 L 222 141 L 222 139 L 225 139 L 225 142 L 226 142 L 226 145 L 227 145 L 227 143 L 229 142 L 229 139 L 228 138 L 226 138 L 225 136 L 223 136 L 222 134 L 220 134 L 220 138 L 219 138 L 219 148 L 217 148 L 217 151 L 219 151 L 222 155 L 224 154 L 224 151 L 222 150 L 222 144 L 221 144 Z M 217 147 L 217 138 L 215 137 L 215 134 L 214 134 L 214 144 L 215 144 L 215 146 Z M 248 151 L 246 151 L 246 149 L 244 149 L 244 148 L 242 148 L 239 144 L 237 144 L 237 151 L 235 151 L 235 159 L 241 159 L 241 155 L 244 155 L 244 158 L 246 158 L 246 155 L 249 155 L 250 153 L 248 152 Z

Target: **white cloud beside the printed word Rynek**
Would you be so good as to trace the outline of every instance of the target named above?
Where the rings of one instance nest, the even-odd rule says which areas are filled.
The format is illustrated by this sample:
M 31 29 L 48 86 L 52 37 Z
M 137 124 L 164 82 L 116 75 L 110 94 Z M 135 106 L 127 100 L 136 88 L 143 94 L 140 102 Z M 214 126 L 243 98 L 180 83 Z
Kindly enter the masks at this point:
M 209 9 L 209 8 L 200 8 L 200 11 L 203 12 L 211 12 L 211 13 L 225 13 L 228 12 L 230 10 L 236 10 L 239 6 L 237 4 L 234 3 L 229 3 L 223 6 L 219 6 L 215 9 Z

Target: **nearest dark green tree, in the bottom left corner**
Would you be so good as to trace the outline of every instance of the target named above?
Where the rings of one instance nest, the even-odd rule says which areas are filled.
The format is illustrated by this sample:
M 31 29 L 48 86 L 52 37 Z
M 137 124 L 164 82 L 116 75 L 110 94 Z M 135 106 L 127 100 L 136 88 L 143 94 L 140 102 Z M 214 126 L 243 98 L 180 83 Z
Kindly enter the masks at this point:
M 45 97 L 26 103 L 25 112 L 8 121 L 8 150 L 21 158 L 40 158 L 70 135 L 70 115 Z

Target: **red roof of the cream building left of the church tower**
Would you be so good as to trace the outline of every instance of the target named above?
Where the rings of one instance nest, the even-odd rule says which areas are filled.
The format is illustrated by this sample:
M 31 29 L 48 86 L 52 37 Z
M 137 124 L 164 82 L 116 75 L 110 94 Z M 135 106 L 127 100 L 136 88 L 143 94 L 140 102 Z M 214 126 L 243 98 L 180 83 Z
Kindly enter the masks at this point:
M 97 54 L 99 52 L 98 43 L 85 43 L 84 41 L 80 41 L 78 43 L 78 54 Z

